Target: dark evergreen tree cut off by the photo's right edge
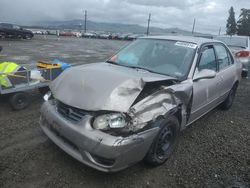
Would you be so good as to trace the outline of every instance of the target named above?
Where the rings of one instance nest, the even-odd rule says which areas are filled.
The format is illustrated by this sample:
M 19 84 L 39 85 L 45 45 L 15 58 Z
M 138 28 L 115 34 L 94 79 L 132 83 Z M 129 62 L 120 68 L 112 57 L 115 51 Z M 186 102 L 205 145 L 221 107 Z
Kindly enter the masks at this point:
M 250 36 L 250 9 L 241 9 L 239 20 L 237 21 L 238 35 Z

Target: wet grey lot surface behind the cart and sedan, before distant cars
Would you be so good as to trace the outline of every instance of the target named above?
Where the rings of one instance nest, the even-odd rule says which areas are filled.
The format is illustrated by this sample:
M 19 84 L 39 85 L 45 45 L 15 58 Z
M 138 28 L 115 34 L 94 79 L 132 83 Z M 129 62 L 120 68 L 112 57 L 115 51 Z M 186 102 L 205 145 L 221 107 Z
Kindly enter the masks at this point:
M 38 35 L 32 40 L 0 40 L 3 51 L 1 61 L 20 64 L 49 61 L 58 58 L 68 63 L 92 63 L 104 61 L 127 41 L 85 39 Z

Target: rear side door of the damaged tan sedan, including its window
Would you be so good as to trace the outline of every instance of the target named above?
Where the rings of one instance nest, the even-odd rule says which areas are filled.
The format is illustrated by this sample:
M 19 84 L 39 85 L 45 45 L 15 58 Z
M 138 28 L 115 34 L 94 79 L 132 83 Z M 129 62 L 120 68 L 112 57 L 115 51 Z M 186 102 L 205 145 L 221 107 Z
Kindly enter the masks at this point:
M 220 100 L 223 101 L 233 87 L 236 67 L 234 66 L 234 59 L 231 53 L 223 44 L 215 44 L 214 49 L 218 62 L 218 77 L 222 82 L 220 87 Z

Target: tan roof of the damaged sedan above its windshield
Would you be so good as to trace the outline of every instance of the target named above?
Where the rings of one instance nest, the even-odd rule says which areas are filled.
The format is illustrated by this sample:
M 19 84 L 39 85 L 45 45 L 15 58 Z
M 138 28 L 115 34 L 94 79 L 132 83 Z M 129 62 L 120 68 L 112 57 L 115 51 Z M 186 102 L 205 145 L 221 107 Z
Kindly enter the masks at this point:
M 193 36 L 168 36 L 168 35 L 161 35 L 161 36 L 147 36 L 147 37 L 140 37 L 143 39 L 158 39 L 158 40 L 176 40 L 176 41 L 183 41 L 183 42 L 191 42 L 195 43 L 197 45 L 202 45 L 204 43 L 210 43 L 210 42 L 219 42 L 221 41 L 214 40 L 214 39 L 208 39 L 203 37 L 193 37 Z

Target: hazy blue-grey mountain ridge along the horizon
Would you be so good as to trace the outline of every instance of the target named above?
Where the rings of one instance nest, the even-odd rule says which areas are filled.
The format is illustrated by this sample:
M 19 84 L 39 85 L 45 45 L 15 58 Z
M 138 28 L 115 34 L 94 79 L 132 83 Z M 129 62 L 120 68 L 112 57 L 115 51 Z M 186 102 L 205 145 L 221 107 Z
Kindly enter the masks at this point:
M 34 26 L 33 26 L 34 27 Z M 43 29 L 69 29 L 69 30 L 83 30 L 83 20 L 67 20 L 67 21 L 43 21 L 35 24 L 37 28 Z M 105 32 L 118 32 L 118 33 L 145 33 L 147 28 L 136 24 L 121 24 L 121 23 L 103 23 L 87 21 L 88 31 L 105 31 Z M 166 34 L 177 33 L 182 35 L 191 35 L 190 31 L 182 30 L 179 28 L 158 28 L 150 27 L 151 34 Z M 201 34 L 201 33 L 195 33 Z

